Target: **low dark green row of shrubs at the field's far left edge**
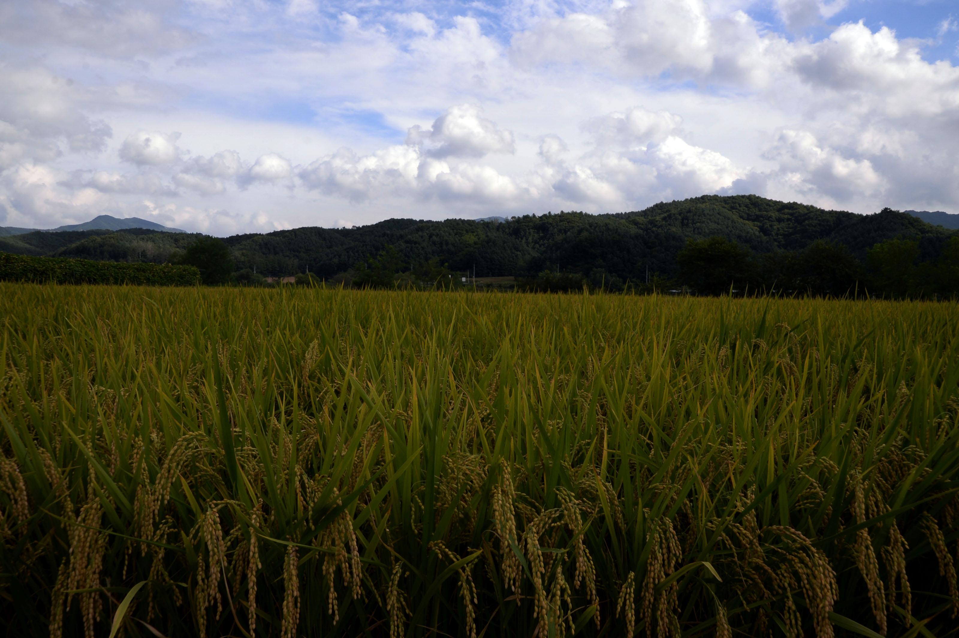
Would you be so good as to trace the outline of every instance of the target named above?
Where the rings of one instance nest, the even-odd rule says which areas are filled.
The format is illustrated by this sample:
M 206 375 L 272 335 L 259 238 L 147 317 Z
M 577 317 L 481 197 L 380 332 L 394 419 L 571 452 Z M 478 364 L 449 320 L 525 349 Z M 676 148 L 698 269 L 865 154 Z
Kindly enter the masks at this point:
M 199 270 L 194 266 L 125 264 L 0 252 L 0 281 L 194 286 L 199 282 Z

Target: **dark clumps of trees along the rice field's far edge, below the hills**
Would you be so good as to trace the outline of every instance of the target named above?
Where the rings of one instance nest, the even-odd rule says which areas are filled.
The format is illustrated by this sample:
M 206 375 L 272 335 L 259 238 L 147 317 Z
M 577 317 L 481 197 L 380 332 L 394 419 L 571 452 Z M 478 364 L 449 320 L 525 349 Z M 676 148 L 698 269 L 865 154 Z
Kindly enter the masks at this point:
M 623 281 L 594 269 L 582 272 L 542 271 L 516 278 L 526 292 L 665 293 L 689 295 L 800 295 L 888 298 L 953 298 L 959 296 L 959 236 L 948 239 L 934 258 L 923 259 L 916 239 L 892 239 L 866 251 L 864 260 L 849 248 L 816 241 L 801 250 L 758 254 L 724 237 L 687 241 L 673 277 L 652 272 L 642 281 Z M 263 275 L 233 270 L 229 248 L 222 240 L 200 239 L 177 258 L 177 264 L 196 267 L 207 284 L 266 285 Z M 300 273 L 296 283 L 320 282 L 352 288 L 457 288 L 461 286 L 448 264 L 437 258 L 409 262 L 387 246 L 368 255 L 348 272 L 329 280 Z

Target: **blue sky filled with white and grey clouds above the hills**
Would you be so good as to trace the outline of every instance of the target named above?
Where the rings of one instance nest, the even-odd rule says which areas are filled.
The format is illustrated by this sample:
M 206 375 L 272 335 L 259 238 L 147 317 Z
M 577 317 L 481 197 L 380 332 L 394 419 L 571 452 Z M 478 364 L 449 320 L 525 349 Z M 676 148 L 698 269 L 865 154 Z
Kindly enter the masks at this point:
M 0 31 L 0 225 L 959 212 L 951 0 L 34 0 Z

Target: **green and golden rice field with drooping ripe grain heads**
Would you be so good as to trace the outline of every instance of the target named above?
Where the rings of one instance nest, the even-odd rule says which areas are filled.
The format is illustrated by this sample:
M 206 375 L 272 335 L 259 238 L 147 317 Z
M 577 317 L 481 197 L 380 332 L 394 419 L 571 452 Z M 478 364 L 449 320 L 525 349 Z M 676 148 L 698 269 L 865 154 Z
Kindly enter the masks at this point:
M 956 635 L 957 321 L 0 284 L 0 627 Z

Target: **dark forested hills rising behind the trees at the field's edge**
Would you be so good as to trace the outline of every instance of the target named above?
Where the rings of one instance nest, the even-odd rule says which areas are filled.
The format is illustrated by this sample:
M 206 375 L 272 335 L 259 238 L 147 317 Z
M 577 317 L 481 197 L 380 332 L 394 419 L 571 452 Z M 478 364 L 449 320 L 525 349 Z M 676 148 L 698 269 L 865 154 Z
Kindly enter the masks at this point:
M 935 258 L 956 234 L 905 213 L 874 215 L 823 210 L 756 196 L 703 196 L 658 203 L 615 215 L 560 212 L 504 222 L 391 219 L 355 228 L 303 227 L 224 239 L 236 270 L 260 274 L 346 272 L 387 246 L 406 264 L 436 259 L 453 271 L 475 265 L 479 276 L 574 272 L 640 281 L 649 272 L 679 272 L 687 241 L 723 237 L 762 255 L 803 250 L 823 240 L 848 248 L 858 260 L 877 243 L 918 241 L 922 259 Z M 164 261 L 198 235 L 146 230 L 44 232 L 0 237 L 0 250 L 117 261 Z

